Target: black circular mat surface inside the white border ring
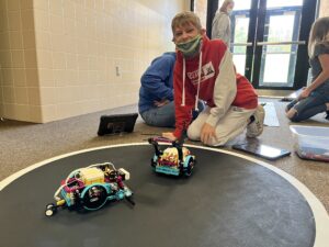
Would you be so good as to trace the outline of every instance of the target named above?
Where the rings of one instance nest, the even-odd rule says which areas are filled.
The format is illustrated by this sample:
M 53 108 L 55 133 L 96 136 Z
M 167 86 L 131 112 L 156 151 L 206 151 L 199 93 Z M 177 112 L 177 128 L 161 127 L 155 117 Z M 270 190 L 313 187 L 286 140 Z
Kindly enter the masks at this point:
M 0 191 L 1 246 L 314 246 L 313 212 L 287 180 L 243 158 L 190 150 L 197 159 L 190 178 L 155 173 L 154 148 L 141 144 L 73 154 L 25 173 Z M 70 171 L 104 161 L 131 172 L 135 206 L 109 202 L 94 212 L 45 216 Z

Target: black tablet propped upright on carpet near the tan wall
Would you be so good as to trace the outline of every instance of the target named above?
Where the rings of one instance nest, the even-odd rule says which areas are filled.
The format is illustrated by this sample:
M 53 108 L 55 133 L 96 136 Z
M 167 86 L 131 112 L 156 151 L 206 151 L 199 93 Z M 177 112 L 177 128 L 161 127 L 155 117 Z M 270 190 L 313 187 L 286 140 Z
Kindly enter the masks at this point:
M 98 135 L 113 135 L 120 133 L 132 133 L 135 127 L 138 113 L 102 115 Z

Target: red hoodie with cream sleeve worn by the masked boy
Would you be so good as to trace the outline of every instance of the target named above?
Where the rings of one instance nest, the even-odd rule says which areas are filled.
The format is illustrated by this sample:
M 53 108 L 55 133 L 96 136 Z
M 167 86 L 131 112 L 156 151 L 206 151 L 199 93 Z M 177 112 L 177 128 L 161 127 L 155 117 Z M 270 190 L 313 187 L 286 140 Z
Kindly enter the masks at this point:
M 202 59 L 201 67 L 200 59 Z M 183 130 L 188 130 L 192 120 L 192 109 L 197 99 L 204 100 L 211 106 L 211 115 L 206 122 L 212 126 L 217 124 L 231 105 L 245 109 L 256 109 L 258 105 L 258 97 L 252 85 L 247 78 L 235 72 L 231 54 L 220 40 L 209 41 L 204 35 L 201 53 L 185 60 L 185 72 L 183 70 L 184 58 L 181 52 L 178 52 L 173 71 L 175 104 L 173 135 L 177 138 L 180 138 Z

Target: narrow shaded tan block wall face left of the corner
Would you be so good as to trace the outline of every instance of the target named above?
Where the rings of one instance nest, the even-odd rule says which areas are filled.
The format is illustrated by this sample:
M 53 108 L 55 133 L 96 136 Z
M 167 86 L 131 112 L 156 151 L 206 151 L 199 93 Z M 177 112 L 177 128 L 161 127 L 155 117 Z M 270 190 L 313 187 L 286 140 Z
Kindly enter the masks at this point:
M 0 0 L 0 115 L 31 120 L 38 98 L 32 1 Z M 39 113 L 38 113 L 39 115 Z

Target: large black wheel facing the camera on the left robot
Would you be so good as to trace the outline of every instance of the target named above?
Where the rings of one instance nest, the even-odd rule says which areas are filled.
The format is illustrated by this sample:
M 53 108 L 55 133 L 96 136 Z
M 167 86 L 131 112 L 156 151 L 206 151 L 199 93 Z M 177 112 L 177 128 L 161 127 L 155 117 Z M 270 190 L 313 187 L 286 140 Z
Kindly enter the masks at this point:
M 83 207 L 86 210 L 98 210 L 102 207 L 107 198 L 107 192 L 102 186 L 91 186 L 83 190 L 81 194 Z

